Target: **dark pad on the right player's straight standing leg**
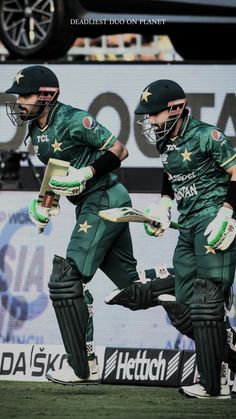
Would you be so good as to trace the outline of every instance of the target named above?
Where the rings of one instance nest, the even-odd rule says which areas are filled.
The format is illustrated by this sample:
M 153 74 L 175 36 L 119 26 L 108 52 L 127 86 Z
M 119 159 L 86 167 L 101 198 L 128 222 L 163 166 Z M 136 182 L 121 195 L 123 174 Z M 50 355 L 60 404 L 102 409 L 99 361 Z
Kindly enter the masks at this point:
M 220 394 L 221 363 L 227 348 L 224 297 L 216 282 L 197 278 L 190 317 L 200 383 L 211 396 Z

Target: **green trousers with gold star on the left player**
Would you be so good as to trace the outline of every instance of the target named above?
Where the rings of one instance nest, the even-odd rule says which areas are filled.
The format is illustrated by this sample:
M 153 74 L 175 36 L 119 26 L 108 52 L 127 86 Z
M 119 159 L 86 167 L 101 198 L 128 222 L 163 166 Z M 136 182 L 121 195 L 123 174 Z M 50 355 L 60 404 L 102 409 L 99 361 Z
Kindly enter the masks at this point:
M 100 210 L 132 206 L 123 185 L 115 184 L 84 198 L 76 207 L 76 224 L 67 248 L 67 259 L 87 283 L 100 268 L 116 285 L 124 288 L 138 279 L 137 261 L 128 223 L 112 223 L 98 216 Z

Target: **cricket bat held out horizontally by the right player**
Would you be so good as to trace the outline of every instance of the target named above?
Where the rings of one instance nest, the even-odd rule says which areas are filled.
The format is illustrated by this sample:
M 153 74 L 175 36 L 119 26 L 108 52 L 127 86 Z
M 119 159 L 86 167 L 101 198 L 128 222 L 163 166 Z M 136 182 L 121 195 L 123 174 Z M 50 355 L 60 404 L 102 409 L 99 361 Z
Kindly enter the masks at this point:
M 121 207 L 102 210 L 99 211 L 98 215 L 104 220 L 112 221 L 113 223 L 150 223 L 152 221 L 156 222 L 155 217 L 144 214 L 142 211 L 139 211 L 132 207 Z M 178 224 L 174 221 L 171 221 L 170 228 L 177 230 Z

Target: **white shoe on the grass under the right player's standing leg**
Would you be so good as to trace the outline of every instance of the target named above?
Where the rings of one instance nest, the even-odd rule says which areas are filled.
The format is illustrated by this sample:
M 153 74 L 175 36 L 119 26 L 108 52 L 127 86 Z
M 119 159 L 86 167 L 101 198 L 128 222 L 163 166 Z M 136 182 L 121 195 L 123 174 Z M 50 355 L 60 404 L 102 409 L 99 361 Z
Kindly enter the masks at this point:
M 205 388 L 200 383 L 193 384 L 192 386 L 180 387 L 179 392 L 180 394 L 183 394 L 186 397 L 196 399 L 231 399 L 230 388 L 228 384 L 221 385 L 219 396 L 211 396 L 210 394 L 208 394 Z

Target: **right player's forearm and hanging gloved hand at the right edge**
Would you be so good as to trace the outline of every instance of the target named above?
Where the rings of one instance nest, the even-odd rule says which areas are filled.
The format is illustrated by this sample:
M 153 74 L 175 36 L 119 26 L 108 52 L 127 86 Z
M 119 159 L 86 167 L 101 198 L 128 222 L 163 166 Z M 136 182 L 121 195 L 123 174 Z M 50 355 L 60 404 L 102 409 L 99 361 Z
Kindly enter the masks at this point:
M 204 235 L 214 249 L 226 250 L 236 237 L 236 164 L 226 170 L 231 176 L 225 202 L 219 209 L 214 220 L 207 227 Z

